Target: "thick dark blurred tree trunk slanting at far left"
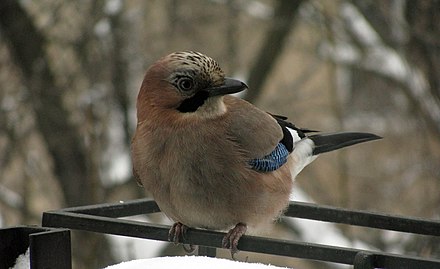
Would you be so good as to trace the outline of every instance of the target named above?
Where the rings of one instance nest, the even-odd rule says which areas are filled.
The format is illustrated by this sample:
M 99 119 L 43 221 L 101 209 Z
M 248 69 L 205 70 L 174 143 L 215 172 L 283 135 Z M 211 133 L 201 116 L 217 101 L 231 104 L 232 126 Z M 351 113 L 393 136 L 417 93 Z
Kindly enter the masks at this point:
M 82 144 L 77 131 L 68 121 L 62 91 L 55 85 L 44 50 L 45 39 L 17 1 L 1 1 L 0 25 L 32 95 L 37 126 L 53 156 L 55 173 L 66 204 L 87 204 L 93 194 L 87 187 L 89 182 Z

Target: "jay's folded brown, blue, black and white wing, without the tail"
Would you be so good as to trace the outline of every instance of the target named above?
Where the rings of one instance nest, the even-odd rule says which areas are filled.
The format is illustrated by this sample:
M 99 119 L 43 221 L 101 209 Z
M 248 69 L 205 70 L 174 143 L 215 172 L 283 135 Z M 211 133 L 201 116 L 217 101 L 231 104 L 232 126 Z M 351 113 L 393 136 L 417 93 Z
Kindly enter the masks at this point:
M 269 114 L 235 97 L 226 96 L 225 103 L 230 136 L 245 152 L 249 166 L 259 172 L 272 172 L 283 166 L 296 143 L 306 133 L 315 132 L 298 128 L 284 116 Z

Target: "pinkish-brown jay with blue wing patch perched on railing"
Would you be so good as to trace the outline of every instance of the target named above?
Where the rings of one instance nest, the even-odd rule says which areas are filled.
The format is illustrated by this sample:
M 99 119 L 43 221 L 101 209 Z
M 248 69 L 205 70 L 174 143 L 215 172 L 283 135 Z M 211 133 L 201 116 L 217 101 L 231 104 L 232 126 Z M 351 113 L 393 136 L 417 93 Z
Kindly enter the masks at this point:
M 282 215 L 293 180 L 319 154 L 381 138 L 299 128 L 231 95 L 247 88 L 195 51 L 171 53 L 147 69 L 133 175 L 174 222 L 169 241 L 179 243 L 188 228 L 227 231 L 221 246 L 233 256 L 248 227 Z

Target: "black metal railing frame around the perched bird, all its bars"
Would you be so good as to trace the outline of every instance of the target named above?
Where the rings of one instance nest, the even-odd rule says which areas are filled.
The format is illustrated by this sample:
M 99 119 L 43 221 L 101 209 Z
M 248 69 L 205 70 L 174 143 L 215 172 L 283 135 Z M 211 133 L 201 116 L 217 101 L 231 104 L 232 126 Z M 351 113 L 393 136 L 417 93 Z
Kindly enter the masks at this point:
M 156 212 L 160 212 L 156 202 L 140 199 L 115 204 L 82 206 L 45 212 L 42 224 L 45 227 L 63 227 L 168 241 L 169 226 L 120 219 Z M 440 235 L 440 221 L 438 220 L 347 210 L 310 203 L 291 202 L 285 212 L 285 217 L 343 223 L 421 235 Z M 216 248 L 221 248 L 223 236 L 224 233 L 221 232 L 189 229 L 183 243 L 198 245 L 199 255 L 214 257 L 216 255 Z M 438 259 L 247 235 L 240 239 L 238 248 L 242 251 L 354 265 L 355 269 L 440 268 L 440 260 Z

